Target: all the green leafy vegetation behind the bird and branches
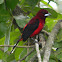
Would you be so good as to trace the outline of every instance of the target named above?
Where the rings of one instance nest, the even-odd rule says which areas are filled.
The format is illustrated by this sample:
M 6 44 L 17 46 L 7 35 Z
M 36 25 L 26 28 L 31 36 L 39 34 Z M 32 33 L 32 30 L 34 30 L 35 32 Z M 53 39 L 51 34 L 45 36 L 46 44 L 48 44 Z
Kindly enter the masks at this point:
M 50 1 L 55 2 L 54 0 L 48 1 L 49 3 Z M 43 5 L 40 6 L 40 2 L 42 2 Z M 55 3 L 58 5 L 57 2 Z M 18 46 L 23 47 L 16 48 L 14 53 L 10 54 L 10 51 L 12 50 L 11 45 L 14 45 L 19 39 L 19 36 L 21 36 L 23 31 L 22 28 L 44 6 L 47 7 L 44 9 L 48 10 L 52 15 L 46 19 L 43 30 L 50 33 L 58 20 L 62 20 L 62 14 L 60 12 L 58 13 L 52 6 L 47 4 L 48 3 L 44 0 L 0 0 L 0 60 L 2 62 L 18 62 L 32 51 L 33 48 L 23 48 L 24 46 L 27 46 L 27 41 L 21 41 Z M 14 19 L 20 28 L 16 26 Z M 42 32 L 42 34 L 45 40 L 47 40 L 48 35 L 44 32 Z M 60 29 L 56 35 L 53 47 L 56 48 L 56 50 L 52 49 L 49 62 L 62 62 L 62 29 Z M 29 62 L 35 54 L 36 51 L 34 49 L 34 51 L 22 60 L 22 62 Z M 37 59 L 35 58 L 34 62 L 36 61 Z

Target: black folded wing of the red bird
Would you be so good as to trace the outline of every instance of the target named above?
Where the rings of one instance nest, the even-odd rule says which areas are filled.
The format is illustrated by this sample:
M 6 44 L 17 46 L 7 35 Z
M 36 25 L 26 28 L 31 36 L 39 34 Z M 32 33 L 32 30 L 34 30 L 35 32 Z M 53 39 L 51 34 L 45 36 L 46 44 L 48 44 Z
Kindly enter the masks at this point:
M 26 41 L 28 37 L 38 28 L 39 19 L 36 19 L 34 23 L 28 24 L 22 34 L 23 41 Z

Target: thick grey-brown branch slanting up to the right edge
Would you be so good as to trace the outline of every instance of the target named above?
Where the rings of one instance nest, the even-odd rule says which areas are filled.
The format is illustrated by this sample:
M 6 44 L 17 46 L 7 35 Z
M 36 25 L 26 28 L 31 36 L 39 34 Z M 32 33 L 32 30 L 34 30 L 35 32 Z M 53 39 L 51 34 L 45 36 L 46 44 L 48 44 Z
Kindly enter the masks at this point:
M 61 28 L 60 25 L 62 25 L 62 20 L 59 20 L 57 22 L 57 24 L 54 26 L 53 30 L 51 31 L 51 33 L 48 37 L 48 40 L 47 40 L 47 43 L 46 43 L 46 46 L 45 46 L 45 53 L 44 53 L 43 62 L 48 62 L 49 61 L 49 57 L 50 57 L 50 54 L 51 54 L 51 48 L 52 48 L 52 45 L 54 43 L 54 39 L 55 39 L 59 29 Z

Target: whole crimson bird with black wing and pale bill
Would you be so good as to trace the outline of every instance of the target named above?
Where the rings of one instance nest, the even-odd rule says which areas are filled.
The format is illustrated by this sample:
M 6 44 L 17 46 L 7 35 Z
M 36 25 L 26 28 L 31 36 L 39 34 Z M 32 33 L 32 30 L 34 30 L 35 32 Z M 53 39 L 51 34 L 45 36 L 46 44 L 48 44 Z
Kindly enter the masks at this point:
M 34 16 L 24 27 L 21 38 L 17 41 L 16 45 L 19 41 L 26 41 L 29 37 L 33 37 L 38 34 L 44 27 L 45 19 L 47 16 L 51 15 L 47 10 L 41 9 L 36 16 Z M 16 47 L 13 47 L 13 49 Z M 13 51 L 12 49 L 12 51 Z M 11 53 L 12 53 L 11 51 Z

